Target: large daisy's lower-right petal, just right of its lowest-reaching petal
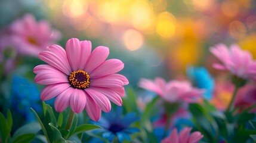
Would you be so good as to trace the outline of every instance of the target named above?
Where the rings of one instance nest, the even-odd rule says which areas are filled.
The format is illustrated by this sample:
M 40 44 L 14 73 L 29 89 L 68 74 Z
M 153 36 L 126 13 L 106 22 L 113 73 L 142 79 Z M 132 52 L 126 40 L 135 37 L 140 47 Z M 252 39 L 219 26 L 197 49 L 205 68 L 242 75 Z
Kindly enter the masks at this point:
M 101 94 L 98 91 L 94 91 L 91 88 L 87 88 L 85 89 L 85 91 L 88 95 L 90 95 L 92 99 L 94 99 L 94 101 L 101 108 L 101 110 L 105 112 L 109 112 L 111 110 L 110 101 L 105 95 Z

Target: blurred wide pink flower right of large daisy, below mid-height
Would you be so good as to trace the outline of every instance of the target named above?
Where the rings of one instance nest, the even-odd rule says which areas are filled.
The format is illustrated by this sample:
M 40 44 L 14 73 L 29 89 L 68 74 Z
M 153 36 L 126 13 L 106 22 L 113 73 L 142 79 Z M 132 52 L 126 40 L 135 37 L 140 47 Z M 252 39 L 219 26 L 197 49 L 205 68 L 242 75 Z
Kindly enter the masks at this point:
M 141 79 L 138 86 L 156 92 L 168 102 L 196 102 L 204 92 L 202 89 L 193 88 L 190 82 L 171 80 L 166 83 L 161 77 L 156 77 L 155 81 Z

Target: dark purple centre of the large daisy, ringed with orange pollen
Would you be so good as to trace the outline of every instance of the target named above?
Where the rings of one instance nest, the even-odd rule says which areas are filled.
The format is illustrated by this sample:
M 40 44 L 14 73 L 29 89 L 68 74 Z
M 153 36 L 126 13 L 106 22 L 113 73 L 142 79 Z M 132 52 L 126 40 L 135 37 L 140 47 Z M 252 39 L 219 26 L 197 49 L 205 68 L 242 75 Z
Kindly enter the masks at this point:
M 74 88 L 88 88 L 90 85 L 90 76 L 84 70 L 73 71 L 69 74 L 69 83 Z

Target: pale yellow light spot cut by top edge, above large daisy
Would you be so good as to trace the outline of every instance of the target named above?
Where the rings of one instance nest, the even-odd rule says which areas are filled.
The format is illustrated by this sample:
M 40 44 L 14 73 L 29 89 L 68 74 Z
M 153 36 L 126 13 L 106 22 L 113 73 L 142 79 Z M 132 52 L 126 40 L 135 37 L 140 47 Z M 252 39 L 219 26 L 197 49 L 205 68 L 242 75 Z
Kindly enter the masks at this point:
M 63 14 L 67 17 L 81 17 L 87 12 L 88 2 L 86 0 L 66 0 L 63 4 Z

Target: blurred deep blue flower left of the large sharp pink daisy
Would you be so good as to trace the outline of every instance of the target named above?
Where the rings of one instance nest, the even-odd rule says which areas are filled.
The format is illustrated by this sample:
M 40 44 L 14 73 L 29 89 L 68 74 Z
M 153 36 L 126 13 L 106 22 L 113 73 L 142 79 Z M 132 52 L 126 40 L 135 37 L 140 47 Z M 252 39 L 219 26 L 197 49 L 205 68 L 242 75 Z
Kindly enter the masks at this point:
M 35 120 L 30 107 L 35 111 L 41 111 L 42 108 L 39 101 L 39 91 L 34 83 L 30 83 L 24 77 L 13 77 L 11 107 L 23 116 L 25 121 L 30 122 Z

